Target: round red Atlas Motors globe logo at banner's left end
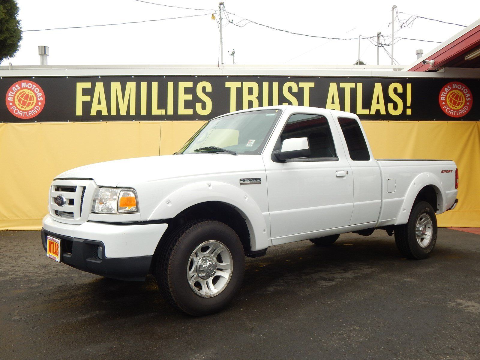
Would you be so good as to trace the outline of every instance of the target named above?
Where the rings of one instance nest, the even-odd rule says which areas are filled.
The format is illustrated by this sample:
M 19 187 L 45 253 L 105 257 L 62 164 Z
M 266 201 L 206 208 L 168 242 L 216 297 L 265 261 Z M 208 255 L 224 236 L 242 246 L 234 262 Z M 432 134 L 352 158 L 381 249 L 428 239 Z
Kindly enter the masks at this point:
M 20 80 L 9 87 L 5 102 L 12 115 L 19 119 L 32 119 L 45 106 L 45 94 L 33 81 Z

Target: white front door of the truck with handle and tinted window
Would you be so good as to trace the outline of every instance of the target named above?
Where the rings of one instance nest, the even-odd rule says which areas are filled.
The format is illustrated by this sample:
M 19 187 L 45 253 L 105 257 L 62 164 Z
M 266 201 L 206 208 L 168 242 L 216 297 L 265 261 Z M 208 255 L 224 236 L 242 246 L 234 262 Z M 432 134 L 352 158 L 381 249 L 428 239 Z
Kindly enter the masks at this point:
M 353 211 L 353 177 L 330 112 L 291 114 L 274 151 L 289 138 L 307 137 L 309 158 L 264 157 L 272 242 L 288 236 L 348 226 Z M 270 154 L 268 154 L 269 156 Z M 308 234 L 303 235 L 308 239 Z M 277 239 L 275 238 L 282 238 Z

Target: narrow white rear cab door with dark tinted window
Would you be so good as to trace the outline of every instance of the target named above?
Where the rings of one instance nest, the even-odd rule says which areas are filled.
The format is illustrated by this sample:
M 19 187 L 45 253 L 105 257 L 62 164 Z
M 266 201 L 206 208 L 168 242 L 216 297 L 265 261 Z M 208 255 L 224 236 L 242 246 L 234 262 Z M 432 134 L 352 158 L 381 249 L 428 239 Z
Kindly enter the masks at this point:
M 381 205 L 380 168 L 372 156 L 359 121 L 338 117 L 344 148 L 353 174 L 353 214 L 350 225 L 377 222 Z

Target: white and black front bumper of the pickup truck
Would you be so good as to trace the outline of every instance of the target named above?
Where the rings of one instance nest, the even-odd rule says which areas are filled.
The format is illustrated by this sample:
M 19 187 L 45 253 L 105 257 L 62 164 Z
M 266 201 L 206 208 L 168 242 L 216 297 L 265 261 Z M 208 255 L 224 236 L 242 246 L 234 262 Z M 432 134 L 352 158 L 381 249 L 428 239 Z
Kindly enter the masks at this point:
M 42 245 L 47 235 L 60 239 L 61 262 L 89 273 L 120 280 L 143 281 L 167 224 L 118 225 L 87 221 L 80 225 L 43 219 Z M 97 256 L 98 246 L 103 256 Z

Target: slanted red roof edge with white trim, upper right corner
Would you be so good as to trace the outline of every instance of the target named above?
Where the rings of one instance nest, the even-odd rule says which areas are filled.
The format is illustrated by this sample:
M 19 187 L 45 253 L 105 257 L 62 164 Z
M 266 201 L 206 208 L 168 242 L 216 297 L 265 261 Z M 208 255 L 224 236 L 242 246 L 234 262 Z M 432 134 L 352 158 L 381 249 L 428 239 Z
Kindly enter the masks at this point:
M 423 64 L 423 60 L 434 62 Z M 403 70 L 434 72 L 443 68 L 480 68 L 480 19 Z

